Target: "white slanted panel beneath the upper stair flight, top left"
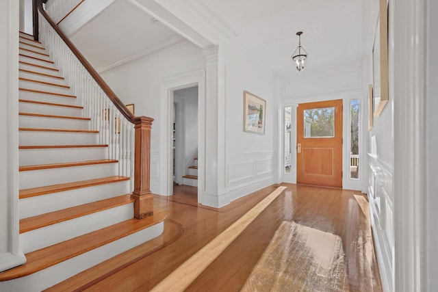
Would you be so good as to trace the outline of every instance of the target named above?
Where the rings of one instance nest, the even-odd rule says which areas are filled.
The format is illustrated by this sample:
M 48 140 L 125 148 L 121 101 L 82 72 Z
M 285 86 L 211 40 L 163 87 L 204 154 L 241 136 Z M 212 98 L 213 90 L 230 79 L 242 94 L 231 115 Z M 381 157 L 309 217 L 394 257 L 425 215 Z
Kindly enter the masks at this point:
M 64 21 L 60 23 L 60 29 L 71 37 L 75 32 L 83 27 L 88 21 L 91 21 L 94 16 L 101 13 L 115 0 L 87 0 L 83 1 L 73 12 L 68 15 Z

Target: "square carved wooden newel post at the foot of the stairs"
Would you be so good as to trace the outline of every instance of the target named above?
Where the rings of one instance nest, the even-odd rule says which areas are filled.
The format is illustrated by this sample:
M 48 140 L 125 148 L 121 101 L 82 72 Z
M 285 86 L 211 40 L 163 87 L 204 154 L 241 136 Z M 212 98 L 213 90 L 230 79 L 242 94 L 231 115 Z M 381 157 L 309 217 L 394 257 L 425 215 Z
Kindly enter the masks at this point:
M 142 219 L 153 215 L 153 196 L 149 190 L 151 169 L 151 127 L 153 118 L 134 118 L 136 146 L 134 161 L 134 217 Z

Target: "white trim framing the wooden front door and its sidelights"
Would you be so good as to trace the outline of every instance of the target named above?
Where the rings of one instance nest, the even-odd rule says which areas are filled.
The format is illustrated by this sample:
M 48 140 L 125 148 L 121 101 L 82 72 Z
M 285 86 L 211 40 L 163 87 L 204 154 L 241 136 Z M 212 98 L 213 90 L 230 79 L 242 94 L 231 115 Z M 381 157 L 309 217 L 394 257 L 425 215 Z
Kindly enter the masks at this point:
M 335 93 L 331 93 L 331 94 L 324 94 L 324 95 L 313 95 L 313 96 L 301 96 L 298 98 L 285 98 L 282 103 L 281 103 L 281 109 L 283 111 L 283 113 L 281 114 L 282 118 L 282 124 L 280 124 L 279 127 L 279 131 L 281 131 L 281 133 L 283 133 L 284 130 L 284 124 L 283 124 L 283 115 L 284 115 L 284 107 L 287 106 L 292 106 L 292 126 L 291 128 L 294 129 L 294 133 L 292 133 L 292 145 L 296 146 L 296 117 L 297 117 L 297 106 L 299 103 L 313 103 L 313 102 L 317 102 L 317 101 L 331 101 L 333 99 L 342 99 L 342 103 L 344 105 L 344 111 L 343 111 L 343 124 L 342 124 L 342 137 L 344 138 L 344 144 L 342 145 L 342 161 L 349 161 L 350 157 L 348 155 L 348 153 L 350 152 L 349 150 L 349 145 L 348 145 L 348 131 L 350 129 L 348 122 L 350 121 L 350 119 L 348 118 L 348 111 L 346 109 L 349 108 L 349 103 L 351 99 L 360 99 L 361 100 L 361 105 L 363 105 L 364 101 L 363 101 L 363 92 L 362 90 L 352 90 L 352 91 L 348 91 L 348 92 L 335 92 Z M 361 106 L 361 113 L 363 112 L 363 106 Z M 363 118 L 363 114 L 360 114 L 360 123 L 363 124 L 364 122 L 364 118 Z M 361 128 L 363 129 L 363 128 Z M 361 131 L 361 130 L 359 130 Z M 362 130 L 363 131 L 363 130 Z M 280 135 L 282 136 L 282 135 Z M 364 135 L 362 135 L 361 137 L 363 137 Z M 284 137 L 281 137 L 279 139 L 280 143 L 284 143 Z M 360 159 L 362 159 L 361 161 L 363 161 L 362 165 L 360 165 L 360 168 L 363 168 L 363 165 L 368 165 L 368 158 L 365 157 L 366 155 L 363 155 L 363 148 L 364 145 L 366 146 L 365 140 L 362 141 L 362 147 L 361 150 L 359 152 L 359 157 Z M 282 144 L 283 145 L 283 144 Z M 296 183 L 296 150 L 292 151 L 292 159 L 293 162 L 292 164 L 295 165 L 295 170 L 292 168 L 292 173 L 291 174 L 284 174 L 284 147 L 282 147 L 283 149 L 281 150 L 281 161 L 279 161 L 279 164 L 282 165 L 282 172 L 281 172 L 281 177 L 283 178 L 283 181 L 287 181 L 290 183 Z M 348 172 L 350 171 L 348 168 L 348 165 L 346 165 L 345 162 L 342 163 L 342 172 L 344 173 L 344 176 L 342 178 L 342 188 L 344 189 L 355 189 L 355 190 L 362 190 L 363 189 L 363 184 L 368 182 L 368 178 L 365 177 L 365 173 L 362 171 L 362 169 L 360 170 L 360 172 L 363 174 L 361 176 L 359 176 L 359 179 L 350 179 L 350 176 L 348 176 Z

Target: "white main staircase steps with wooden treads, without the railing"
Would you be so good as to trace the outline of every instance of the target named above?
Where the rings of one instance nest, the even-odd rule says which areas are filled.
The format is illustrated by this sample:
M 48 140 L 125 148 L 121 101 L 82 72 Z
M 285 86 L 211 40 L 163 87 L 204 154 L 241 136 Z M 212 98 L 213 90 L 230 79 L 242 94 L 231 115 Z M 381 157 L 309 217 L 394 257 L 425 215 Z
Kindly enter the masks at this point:
M 27 263 L 0 274 L 0 291 L 41 291 L 157 237 L 164 213 L 133 218 L 129 177 L 90 131 L 60 70 L 20 33 L 20 243 Z

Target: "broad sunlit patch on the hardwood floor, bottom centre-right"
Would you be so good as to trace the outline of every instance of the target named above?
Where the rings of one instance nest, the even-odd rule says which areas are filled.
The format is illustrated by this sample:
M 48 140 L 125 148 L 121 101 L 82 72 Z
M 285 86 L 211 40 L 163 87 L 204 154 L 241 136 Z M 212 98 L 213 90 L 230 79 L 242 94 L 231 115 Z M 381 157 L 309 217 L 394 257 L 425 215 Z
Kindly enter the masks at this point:
M 346 291 L 346 281 L 341 237 L 283 221 L 242 291 Z

